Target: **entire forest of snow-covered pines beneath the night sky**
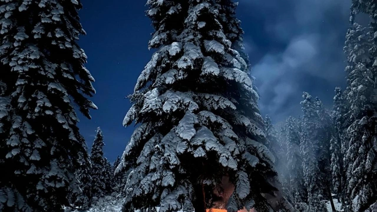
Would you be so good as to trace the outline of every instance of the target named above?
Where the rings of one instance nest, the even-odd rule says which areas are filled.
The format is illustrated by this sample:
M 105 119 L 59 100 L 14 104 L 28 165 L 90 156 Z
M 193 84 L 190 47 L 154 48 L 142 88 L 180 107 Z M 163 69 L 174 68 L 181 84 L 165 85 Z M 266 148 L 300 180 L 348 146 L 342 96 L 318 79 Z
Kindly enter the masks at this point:
M 112 134 L 89 149 L 78 127 L 101 110 L 82 2 L 0 0 L 0 212 L 377 212 L 375 0 L 349 5 L 332 108 L 302 91 L 280 123 L 259 107 L 242 3 L 147 0 L 153 51 L 115 161 Z

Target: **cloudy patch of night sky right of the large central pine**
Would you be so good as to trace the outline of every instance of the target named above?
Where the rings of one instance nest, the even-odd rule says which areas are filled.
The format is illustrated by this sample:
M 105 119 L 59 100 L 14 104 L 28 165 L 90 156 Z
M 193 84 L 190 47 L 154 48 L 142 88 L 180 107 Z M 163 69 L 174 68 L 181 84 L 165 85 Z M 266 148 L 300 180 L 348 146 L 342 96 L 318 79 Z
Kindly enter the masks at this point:
M 250 57 L 262 52 L 251 71 L 262 113 L 276 122 L 299 114 L 303 91 L 331 107 L 334 88 L 345 85 L 343 45 L 350 0 L 239 1 L 241 20 L 247 10 L 248 18 L 256 20 L 250 19 L 250 26 L 243 22 L 243 27 L 249 32 L 245 49 Z M 259 25 L 263 32 L 248 29 Z

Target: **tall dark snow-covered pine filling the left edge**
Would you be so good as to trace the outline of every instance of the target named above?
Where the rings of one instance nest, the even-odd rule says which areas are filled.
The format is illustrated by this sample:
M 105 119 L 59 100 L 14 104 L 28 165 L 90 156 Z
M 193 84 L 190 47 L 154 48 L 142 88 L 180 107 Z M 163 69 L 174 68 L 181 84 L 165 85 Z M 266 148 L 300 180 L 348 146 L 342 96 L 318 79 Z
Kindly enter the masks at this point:
M 87 158 L 73 102 L 97 107 L 80 0 L 0 1 L 0 210 L 61 211 Z M 6 77 L 5 77 L 6 76 Z

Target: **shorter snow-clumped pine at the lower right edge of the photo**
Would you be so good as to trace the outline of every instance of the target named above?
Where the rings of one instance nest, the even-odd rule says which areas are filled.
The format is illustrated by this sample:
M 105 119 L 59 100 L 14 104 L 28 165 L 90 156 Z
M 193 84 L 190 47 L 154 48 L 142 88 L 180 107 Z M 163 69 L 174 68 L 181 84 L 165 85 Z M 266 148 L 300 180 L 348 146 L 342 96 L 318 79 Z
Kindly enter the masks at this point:
M 376 152 L 377 128 L 375 117 L 356 120 L 347 131 L 349 149 L 345 155 L 347 163 L 346 178 L 352 211 L 363 211 L 375 201 L 377 194 Z M 371 132 L 372 131 L 372 132 Z

